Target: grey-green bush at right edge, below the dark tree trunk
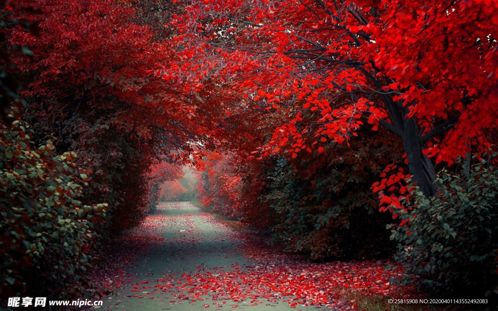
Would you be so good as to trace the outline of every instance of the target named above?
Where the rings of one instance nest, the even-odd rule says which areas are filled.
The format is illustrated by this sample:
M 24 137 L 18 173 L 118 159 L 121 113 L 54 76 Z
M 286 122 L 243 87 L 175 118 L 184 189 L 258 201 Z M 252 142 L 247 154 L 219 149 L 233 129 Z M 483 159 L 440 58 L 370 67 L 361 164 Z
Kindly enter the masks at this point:
M 401 224 L 388 227 L 399 242 L 401 282 L 435 295 L 498 293 L 498 171 L 489 161 L 457 175 L 444 169 L 435 185 L 436 196 L 413 190 L 406 210 L 393 207 Z

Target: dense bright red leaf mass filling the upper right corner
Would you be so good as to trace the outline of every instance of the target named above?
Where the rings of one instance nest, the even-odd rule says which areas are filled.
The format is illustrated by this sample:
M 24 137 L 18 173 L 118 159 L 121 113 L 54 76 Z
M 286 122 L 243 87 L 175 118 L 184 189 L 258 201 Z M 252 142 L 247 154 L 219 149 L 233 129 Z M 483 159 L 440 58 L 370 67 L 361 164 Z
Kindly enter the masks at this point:
M 375 8 L 375 2 L 365 2 L 370 11 Z M 437 162 L 452 162 L 471 151 L 472 145 L 488 147 L 487 136 L 497 128 L 498 3 L 382 1 L 382 5 L 380 22 L 363 27 L 375 40 L 365 53 L 395 81 L 389 85 L 393 100 L 414 102 L 407 106 L 425 128 L 424 135 L 436 119 L 459 116 L 429 152 L 437 154 Z M 351 28 L 362 32 L 360 27 Z

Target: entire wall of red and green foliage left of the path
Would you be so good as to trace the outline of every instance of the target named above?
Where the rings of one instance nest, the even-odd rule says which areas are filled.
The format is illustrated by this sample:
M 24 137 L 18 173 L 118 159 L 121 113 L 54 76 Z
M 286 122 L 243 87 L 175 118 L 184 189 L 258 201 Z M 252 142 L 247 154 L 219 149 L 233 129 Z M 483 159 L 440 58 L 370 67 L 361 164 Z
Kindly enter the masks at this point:
M 3 147 L 18 150 L 5 149 L 9 157 L 1 160 L 9 163 L 13 155 L 12 163 L 22 168 L 2 167 L 6 180 L 1 208 L 2 215 L 9 216 L 1 228 L 0 245 L 6 256 L 1 263 L 5 278 L 1 292 L 10 297 L 76 295 L 90 286 L 84 270 L 91 258 L 100 256 L 99 245 L 144 218 L 158 199 L 156 181 L 181 176 L 177 169 L 161 171 L 160 166 L 182 162 L 182 150 L 187 156 L 194 153 L 185 142 L 196 137 L 192 124 L 199 122 L 190 121 L 194 105 L 181 102 L 176 90 L 167 93 L 164 80 L 146 73 L 148 66 L 165 62 L 170 54 L 167 44 L 154 40 L 148 25 L 137 22 L 139 14 L 130 3 L 15 4 L 1 2 L 7 21 L 2 24 L 6 38 L 2 53 L 9 53 L 2 70 L 22 87 L 15 90 L 18 94 L 9 93 L 8 99 L 2 95 L 2 101 L 8 101 L 2 102 L 7 106 L 2 109 L 15 105 L 19 111 L 1 119 L 0 125 L 9 133 L 8 124 L 23 119 L 29 125 L 22 126 L 31 129 L 29 134 L 22 130 L 26 133 L 12 136 L 22 141 L 13 140 L 11 134 L 2 137 Z M 34 25 L 39 25 L 39 36 L 25 31 Z M 154 165 L 159 168 L 153 169 Z M 38 170 L 39 176 L 28 168 Z M 82 176 L 87 183 L 83 188 L 77 183 Z M 17 184 L 15 178 L 24 181 Z M 62 180 L 63 192 L 54 180 Z M 72 188 L 66 191 L 67 187 Z M 41 207 L 25 206 L 38 196 L 47 198 Z M 100 212 L 90 222 L 87 212 L 93 206 Z M 45 228 L 49 222 L 52 226 Z M 2 299 L 2 307 L 5 302 Z

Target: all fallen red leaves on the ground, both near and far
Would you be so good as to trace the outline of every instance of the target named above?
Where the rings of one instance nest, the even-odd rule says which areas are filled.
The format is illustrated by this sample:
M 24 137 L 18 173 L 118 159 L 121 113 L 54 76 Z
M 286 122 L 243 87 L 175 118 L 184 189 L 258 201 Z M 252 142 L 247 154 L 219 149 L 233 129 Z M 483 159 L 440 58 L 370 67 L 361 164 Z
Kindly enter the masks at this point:
M 169 203 L 169 207 L 171 205 L 183 208 L 176 203 Z M 159 212 L 161 208 L 164 206 L 159 207 Z M 197 221 L 216 226 L 215 240 L 227 240 L 236 245 L 233 249 L 225 247 L 216 250 L 220 255 L 228 256 L 225 258 L 228 258 L 229 265 L 210 268 L 199 265 L 194 271 L 189 271 L 190 268 L 185 271 L 169 270 L 164 271 L 159 277 L 156 276 L 156 271 L 151 271 L 139 277 L 130 275 L 122 279 L 107 280 L 105 288 L 109 291 L 123 290 L 123 285 L 129 283 L 128 285 L 132 286 L 131 297 L 134 298 L 161 299 L 169 303 L 205 301 L 209 305 L 214 304 L 214 307 L 219 307 L 228 301 L 235 303 L 249 301 L 250 306 L 257 306 L 270 305 L 283 300 L 294 308 L 303 305 L 347 310 L 356 306 L 355 302 L 345 301 L 345 293 L 353 292 L 376 297 L 415 297 L 414 294 L 409 296 L 406 294 L 409 288 L 401 289 L 389 282 L 391 277 L 396 278 L 398 274 L 384 269 L 387 261 L 310 263 L 299 256 L 275 252 L 275 248 L 268 247 L 260 238 L 250 233 L 237 232 L 208 213 L 185 214 L 179 217 L 151 215 L 142 225 L 130 232 L 127 238 L 138 238 L 145 243 L 137 248 L 143 254 L 149 251 L 157 252 L 157 249 L 151 250 L 147 246 L 155 245 L 155 248 L 168 249 L 173 246 L 174 249 L 181 248 L 185 252 L 182 255 L 171 255 L 195 256 L 196 245 L 205 243 L 213 237 L 205 235 L 202 230 L 199 231 L 195 221 L 191 220 L 192 216 L 200 217 Z M 172 239 L 159 238 L 163 230 L 172 230 L 179 225 L 185 227 L 182 235 Z M 214 250 L 210 250 L 210 255 L 213 255 L 212 251 Z M 235 258 L 239 252 L 251 264 L 237 262 Z M 230 260 L 232 257 L 234 259 Z M 147 262 L 138 262 L 135 265 L 142 264 L 147 267 Z M 166 298 L 170 295 L 173 299 Z

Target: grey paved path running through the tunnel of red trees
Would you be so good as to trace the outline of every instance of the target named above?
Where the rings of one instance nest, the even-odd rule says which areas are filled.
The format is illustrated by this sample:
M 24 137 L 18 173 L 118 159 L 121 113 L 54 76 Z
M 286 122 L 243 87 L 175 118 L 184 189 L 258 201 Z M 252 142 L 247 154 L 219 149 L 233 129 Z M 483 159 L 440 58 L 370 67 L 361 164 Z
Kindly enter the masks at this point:
M 292 308 L 288 296 L 284 302 L 274 293 L 258 292 L 247 278 L 241 280 L 241 270 L 257 271 L 257 265 L 241 254 L 243 241 L 232 228 L 188 202 L 160 204 L 134 231 L 138 236 L 149 234 L 153 243 L 136 258 L 136 265 L 128 271 L 130 280 L 118 289 L 119 296 L 104 297 L 104 309 L 326 309 Z M 257 273 L 249 275 L 258 277 Z

